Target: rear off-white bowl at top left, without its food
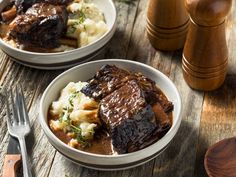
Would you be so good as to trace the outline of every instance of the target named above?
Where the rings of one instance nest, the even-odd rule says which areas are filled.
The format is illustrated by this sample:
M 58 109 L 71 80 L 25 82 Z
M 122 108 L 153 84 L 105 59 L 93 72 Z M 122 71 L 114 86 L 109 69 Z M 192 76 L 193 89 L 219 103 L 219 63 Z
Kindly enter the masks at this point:
M 0 1 L 0 12 L 3 7 L 9 4 L 10 0 L 2 0 Z M 20 61 L 21 63 L 27 63 L 28 65 L 34 67 L 34 65 L 40 66 L 53 66 L 54 64 L 62 66 L 63 63 L 68 62 L 79 62 L 86 58 L 86 56 L 93 54 L 99 49 L 103 48 L 111 37 L 114 35 L 116 30 L 116 8 L 112 0 L 93 0 L 94 4 L 98 6 L 98 8 L 104 13 L 105 20 L 108 26 L 108 31 L 98 40 L 93 43 L 80 47 L 71 51 L 65 52 L 57 52 L 57 53 L 38 53 L 38 52 L 30 52 L 21 49 L 17 49 L 7 44 L 0 38 L 0 48 L 7 53 L 10 57 L 15 58 L 16 61 Z

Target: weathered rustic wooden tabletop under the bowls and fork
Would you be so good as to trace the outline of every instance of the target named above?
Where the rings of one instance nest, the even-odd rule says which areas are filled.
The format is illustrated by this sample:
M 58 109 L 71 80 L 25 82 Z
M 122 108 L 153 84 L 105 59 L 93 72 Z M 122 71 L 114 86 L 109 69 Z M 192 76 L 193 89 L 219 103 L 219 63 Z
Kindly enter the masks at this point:
M 204 177 L 206 149 L 215 142 L 236 136 L 236 2 L 227 20 L 229 70 L 224 85 L 213 92 L 190 89 L 182 76 L 182 51 L 154 50 L 145 33 L 147 0 L 132 4 L 116 1 L 118 28 L 106 51 L 98 58 L 128 58 L 165 73 L 177 86 L 183 101 L 182 124 L 170 146 L 159 157 L 140 167 L 117 172 L 89 170 L 62 157 L 48 142 L 39 122 L 39 101 L 47 85 L 62 72 L 24 67 L 0 53 L 0 85 L 22 84 L 32 125 L 28 147 L 37 177 Z M 4 99 L 0 99 L 0 176 L 7 150 Z M 31 149 L 31 150 L 30 150 Z

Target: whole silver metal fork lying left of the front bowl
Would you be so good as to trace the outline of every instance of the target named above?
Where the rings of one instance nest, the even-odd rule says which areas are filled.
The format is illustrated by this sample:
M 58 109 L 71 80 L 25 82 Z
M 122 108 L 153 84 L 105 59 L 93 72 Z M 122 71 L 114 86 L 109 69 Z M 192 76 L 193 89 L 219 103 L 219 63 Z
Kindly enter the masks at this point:
M 15 94 L 13 94 L 12 89 L 10 89 L 10 95 L 8 97 L 9 97 L 7 98 L 8 131 L 11 136 L 19 140 L 22 162 L 23 162 L 24 177 L 32 177 L 25 144 L 25 136 L 30 133 L 30 122 L 21 86 L 15 87 Z

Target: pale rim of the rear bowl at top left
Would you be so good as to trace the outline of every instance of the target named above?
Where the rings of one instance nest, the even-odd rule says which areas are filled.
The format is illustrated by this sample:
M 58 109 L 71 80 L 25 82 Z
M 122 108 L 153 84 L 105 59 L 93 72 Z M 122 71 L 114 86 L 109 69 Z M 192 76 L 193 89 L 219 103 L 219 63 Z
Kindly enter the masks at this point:
M 68 50 L 68 51 L 62 51 L 62 52 L 31 52 L 31 51 L 27 51 L 27 50 L 22 50 L 16 47 L 11 46 L 10 44 L 8 44 L 7 42 L 5 42 L 2 38 L 0 38 L 0 44 L 10 48 L 11 50 L 14 50 L 16 52 L 22 53 L 22 54 L 28 54 L 28 55 L 40 55 L 40 56 L 60 56 L 60 55 L 68 55 L 70 53 L 74 53 L 74 52 L 84 52 L 83 50 L 87 49 L 88 47 L 93 48 L 95 45 L 98 45 L 98 43 L 105 39 L 106 37 L 109 36 L 110 33 L 112 33 L 112 31 L 116 28 L 116 23 L 117 23 L 117 10 L 115 7 L 115 4 L 112 0 L 106 0 L 108 3 L 111 4 L 112 7 L 112 11 L 114 11 L 114 21 L 112 21 L 111 27 L 108 29 L 108 31 L 106 33 L 104 33 L 101 37 L 99 37 L 97 40 L 93 41 L 92 43 L 79 47 L 79 48 L 75 48 L 72 50 Z M 104 12 L 103 12 L 104 14 Z M 106 19 L 105 19 L 106 20 Z

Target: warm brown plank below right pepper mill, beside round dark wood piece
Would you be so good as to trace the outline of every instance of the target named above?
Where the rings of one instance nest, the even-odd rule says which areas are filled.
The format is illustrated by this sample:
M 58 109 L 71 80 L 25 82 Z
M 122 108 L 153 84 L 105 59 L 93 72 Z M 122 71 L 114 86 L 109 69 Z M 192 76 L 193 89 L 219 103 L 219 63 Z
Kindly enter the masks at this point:
M 197 177 L 204 177 L 204 155 L 209 146 L 224 139 L 236 136 L 236 75 L 228 76 L 225 84 L 214 92 L 207 93 L 204 99 L 199 143 L 197 151 Z

